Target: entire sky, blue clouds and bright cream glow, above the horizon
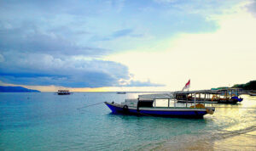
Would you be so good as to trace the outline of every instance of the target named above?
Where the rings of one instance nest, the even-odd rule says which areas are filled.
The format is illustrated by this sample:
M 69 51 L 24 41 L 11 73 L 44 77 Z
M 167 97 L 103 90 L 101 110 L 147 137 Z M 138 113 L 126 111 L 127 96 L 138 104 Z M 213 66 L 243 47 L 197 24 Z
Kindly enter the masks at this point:
M 0 85 L 177 91 L 256 80 L 256 1 L 0 1 Z

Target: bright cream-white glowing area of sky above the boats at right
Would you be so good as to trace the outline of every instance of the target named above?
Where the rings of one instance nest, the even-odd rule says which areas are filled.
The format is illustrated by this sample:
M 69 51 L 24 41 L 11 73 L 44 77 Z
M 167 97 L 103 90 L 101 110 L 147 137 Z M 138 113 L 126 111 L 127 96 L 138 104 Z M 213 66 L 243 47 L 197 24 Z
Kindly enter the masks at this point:
M 256 71 L 256 19 L 244 5 L 212 16 L 218 31 L 181 33 L 158 42 L 154 51 L 135 49 L 107 57 L 129 67 L 140 81 L 164 83 L 169 90 L 182 88 L 191 78 L 192 89 L 231 86 L 254 80 Z

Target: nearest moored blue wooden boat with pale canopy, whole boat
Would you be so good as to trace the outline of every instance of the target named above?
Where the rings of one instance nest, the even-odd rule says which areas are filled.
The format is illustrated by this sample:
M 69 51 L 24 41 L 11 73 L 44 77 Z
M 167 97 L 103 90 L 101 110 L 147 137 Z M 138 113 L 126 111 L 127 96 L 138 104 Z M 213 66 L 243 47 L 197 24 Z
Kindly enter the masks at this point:
M 158 99 L 168 101 L 167 107 L 157 107 L 155 104 Z M 113 114 L 122 115 L 144 115 L 178 118 L 203 118 L 204 115 L 212 115 L 214 107 L 205 107 L 202 103 L 191 105 L 190 107 L 170 106 L 170 101 L 175 101 L 171 93 L 165 94 L 146 94 L 140 95 L 137 99 L 125 99 L 123 103 L 105 102 Z

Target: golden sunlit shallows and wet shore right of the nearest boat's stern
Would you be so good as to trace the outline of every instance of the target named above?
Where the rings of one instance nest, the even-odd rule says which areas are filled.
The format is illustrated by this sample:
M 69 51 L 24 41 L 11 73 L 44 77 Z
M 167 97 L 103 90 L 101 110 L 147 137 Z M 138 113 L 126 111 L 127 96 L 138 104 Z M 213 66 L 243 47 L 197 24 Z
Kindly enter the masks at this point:
M 205 116 L 207 125 L 213 126 L 207 126 L 208 130 L 212 131 L 203 131 L 197 137 L 189 135 L 171 138 L 155 150 L 255 150 L 256 97 L 242 98 L 244 100 L 241 104 L 214 104 L 223 108 L 217 108 L 212 116 Z M 177 145 L 181 140 L 183 145 Z

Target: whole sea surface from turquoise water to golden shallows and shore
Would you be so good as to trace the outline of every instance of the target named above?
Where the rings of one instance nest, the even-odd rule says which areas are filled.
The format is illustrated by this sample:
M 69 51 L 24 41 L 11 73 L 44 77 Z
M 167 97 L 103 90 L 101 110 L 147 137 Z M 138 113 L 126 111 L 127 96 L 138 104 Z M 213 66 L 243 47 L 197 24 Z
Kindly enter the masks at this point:
M 131 92 L 0 93 L 0 150 L 256 150 L 256 97 L 203 119 L 113 115 Z M 85 108 L 90 104 L 96 104 Z

